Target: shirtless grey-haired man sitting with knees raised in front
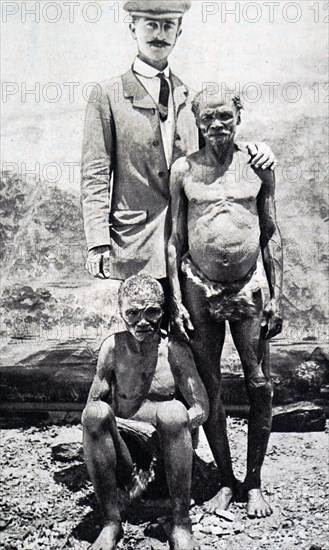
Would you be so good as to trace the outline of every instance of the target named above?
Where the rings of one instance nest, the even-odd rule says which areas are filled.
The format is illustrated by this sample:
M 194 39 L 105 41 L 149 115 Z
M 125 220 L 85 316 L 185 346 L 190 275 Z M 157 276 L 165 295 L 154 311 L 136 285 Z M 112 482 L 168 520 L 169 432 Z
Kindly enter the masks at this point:
M 175 399 L 148 401 L 159 355 L 164 294 L 158 281 L 132 276 L 119 290 L 125 332 L 107 338 L 83 412 L 84 453 L 105 525 L 94 550 L 114 550 L 122 536 L 118 482 L 129 483 L 133 463 L 116 417 L 150 422 L 160 437 L 172 506 L 172 550 L 198 549 L 189 518 L 193 447 L 191 431 L 203 424 L 209 405 L 189 347 L 173 337 L 167 368 L 187 407 Z

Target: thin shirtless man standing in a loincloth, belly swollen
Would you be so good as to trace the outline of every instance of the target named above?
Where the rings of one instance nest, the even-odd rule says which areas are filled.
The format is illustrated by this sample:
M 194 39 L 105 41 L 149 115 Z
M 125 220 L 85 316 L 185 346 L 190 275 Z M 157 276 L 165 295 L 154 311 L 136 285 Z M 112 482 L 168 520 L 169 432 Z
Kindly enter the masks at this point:
M 282 242 L 274 172 L 253 167 L 244 176 L 249 156 L 234 139 L 241 108 L 240 98 L 232 94 L 201 92 L 194 100 L 206 146 L 172 167 L 169 277 L 174 326 L 190 341 L 209 398 L 204 429 L 220 485 L 207 509 L 227 509 L 238 487 L 221 401 L 220 359 L 229 321 L 250 401 L 243 485 L 247 513 L 265 517 L 271 514 L 261 491 L 272 416 L 268 340 L 282 330 Z M 260 253 L 270 293 L 265 308 L 258 276 Z

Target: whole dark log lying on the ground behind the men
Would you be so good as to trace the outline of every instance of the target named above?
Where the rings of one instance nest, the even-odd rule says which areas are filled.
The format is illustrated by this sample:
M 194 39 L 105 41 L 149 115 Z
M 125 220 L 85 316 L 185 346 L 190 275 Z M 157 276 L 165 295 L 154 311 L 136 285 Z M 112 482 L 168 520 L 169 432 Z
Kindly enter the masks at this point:
M 18 346 L 12 350 L 10 346 Z M 2 361 L 15 364 L 0 368 L 0 411 L 13 409 L 21 404 L 25 410 L 29 404 L 35 411 L 81 410 L 95 373 L 99 343 L 78 340 L 73 342 L 46 342 L 39 349 L 40 342 L 21 342 L 7 345 Z M 271 365 L 273 371 L 274 404 L 283 405 L 305 399 L 325 399 L 325 384 L 329 382 L 329 360 L 327 348 L 315 348 L 314 343 L 303 343 L 292 347 L 272 344 Z M 299 361 L 299 363 L 298 363 Z M 248 405 L 244 376 L 232 373 L 223 365 L 224 404 L 230 407 Z M 158 377 L 157 377 L 158 378 Z M 161 395 L 163 387 L 172 391 L 172 380 L 166 375 L 161 388 L 154 392 Z M 17 410 L 17 409 L 16 409 Z

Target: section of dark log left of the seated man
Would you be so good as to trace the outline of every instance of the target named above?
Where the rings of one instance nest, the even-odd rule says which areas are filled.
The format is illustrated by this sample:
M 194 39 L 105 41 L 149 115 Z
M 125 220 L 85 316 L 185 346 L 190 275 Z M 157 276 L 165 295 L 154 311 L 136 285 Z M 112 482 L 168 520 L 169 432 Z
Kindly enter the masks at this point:
M 97 363 L 95 343 L 22 341 L 7 347 L 0 368 L 1 403 L 86 402 Z

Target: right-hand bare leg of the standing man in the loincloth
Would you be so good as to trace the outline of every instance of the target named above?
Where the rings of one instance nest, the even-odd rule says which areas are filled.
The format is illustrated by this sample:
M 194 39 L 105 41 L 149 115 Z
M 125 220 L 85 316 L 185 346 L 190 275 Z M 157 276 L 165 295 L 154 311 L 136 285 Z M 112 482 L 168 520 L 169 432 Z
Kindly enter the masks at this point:
M 261 339 L 262 305 L 254 318 L 231 322 L 231 332 L 245 372 L 250 400 L 248 424 L 247 513 L 266 517 L 272 513 L 261 491 L 261 468 L 264 462 L 272 422 L 272 384 L 269 372 L 268 342 Z

